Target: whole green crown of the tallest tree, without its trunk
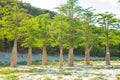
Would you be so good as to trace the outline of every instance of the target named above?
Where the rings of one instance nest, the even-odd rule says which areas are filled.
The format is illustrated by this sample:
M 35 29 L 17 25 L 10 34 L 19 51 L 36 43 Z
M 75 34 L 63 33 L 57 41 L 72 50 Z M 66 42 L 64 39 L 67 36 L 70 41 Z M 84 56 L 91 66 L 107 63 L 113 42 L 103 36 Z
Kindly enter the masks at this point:
M 67 2 L 59 7 L 59 11 L 64 16 L 67 16 L 67 23 L 69 24 L 66 32 L 66 44 L 68 46 L 77 47 L 80 42 L 81 25 L 78 17 L 81 7 L 77 6 L 78 0 L 67 0 Z

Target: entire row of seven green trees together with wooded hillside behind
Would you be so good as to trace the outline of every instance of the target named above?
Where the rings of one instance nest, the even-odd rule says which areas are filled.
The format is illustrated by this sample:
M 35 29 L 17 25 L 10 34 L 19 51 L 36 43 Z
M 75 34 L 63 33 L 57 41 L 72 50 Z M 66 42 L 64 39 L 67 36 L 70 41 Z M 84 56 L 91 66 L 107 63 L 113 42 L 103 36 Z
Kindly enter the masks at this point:
M 74 55 L 120 57 L 120 19 L 113 13 L 95 14 L 94 9 L 84 9 L 78 0 L 68 0 L 58 7 L 59 13 L 44 10 L 19 0 L 0 0 L 0 51 L 11 51 L 11 66 L 16 65 L 17 53 L 28 52 L 28 65 L 32 53 L 41 52 L 42 64 L 47 64 L 49 54 L 68 54 L 68 64 L 73 66 Z

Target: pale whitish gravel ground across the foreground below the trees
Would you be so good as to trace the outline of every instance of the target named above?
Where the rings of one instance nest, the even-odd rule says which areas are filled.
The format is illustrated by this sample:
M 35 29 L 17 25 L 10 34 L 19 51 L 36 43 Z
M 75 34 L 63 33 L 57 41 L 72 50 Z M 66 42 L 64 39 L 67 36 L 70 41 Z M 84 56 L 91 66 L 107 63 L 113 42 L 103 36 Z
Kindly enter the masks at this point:
M 2 68 L 6 69 L 6 68 Z M 30 73 L 12 73 L 17 75 L 19 80 L 91 80 L 91 78 L 100 77 L 98 80 L 117 80 L 116 74 L 120 74 L 120 66 L 104 66 L 104 65 L 78 65 L 74 67 L 63 66 L 18 66 L 17 68 L 10 68 L 17 70 L 33 70 Z M 0 77 L 6 75 L 0 75 Z M 2 78 L 0 78 L 2 80 Z M 97 79 L 94 79 L 97 80 Z

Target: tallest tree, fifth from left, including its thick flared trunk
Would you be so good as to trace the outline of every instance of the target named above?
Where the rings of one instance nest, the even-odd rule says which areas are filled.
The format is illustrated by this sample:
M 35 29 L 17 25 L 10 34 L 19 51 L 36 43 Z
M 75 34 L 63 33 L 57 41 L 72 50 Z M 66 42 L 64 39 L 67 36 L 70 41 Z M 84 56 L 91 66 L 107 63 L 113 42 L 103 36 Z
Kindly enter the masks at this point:
M 68 65 L 73 66 L 74 65 L 74 48 L 79 41 L 77 28 L 80 28 L 79 19 L 77 16 L 79 16 L 79 12 L 81 11 L 81 7 L 77 5 L 78 0 L 67 0 L 67 3 L 59 7 L 59 11 L 61 14 L 64 14 L 65 16 L 69 17 L 68 23 L 70 24 L 68 31 L 67 31 L 67 44 L 69 46 L 69 52 L 68 52 Z

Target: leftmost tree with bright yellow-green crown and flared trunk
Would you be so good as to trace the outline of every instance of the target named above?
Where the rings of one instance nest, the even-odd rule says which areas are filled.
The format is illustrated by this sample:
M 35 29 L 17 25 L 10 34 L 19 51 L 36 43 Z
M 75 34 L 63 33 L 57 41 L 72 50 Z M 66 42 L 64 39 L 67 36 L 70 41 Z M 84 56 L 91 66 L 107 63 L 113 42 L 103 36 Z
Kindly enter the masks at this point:
M 1 19 L 4 35 L 8 40 L 14 40 L 10 66 L 15 67 L 17 63 L 17 41 L 24 31 L 20 22 L 26 18 L 26 10 L 21 8 L 18 0 L 5 0 L 4 15 Z

